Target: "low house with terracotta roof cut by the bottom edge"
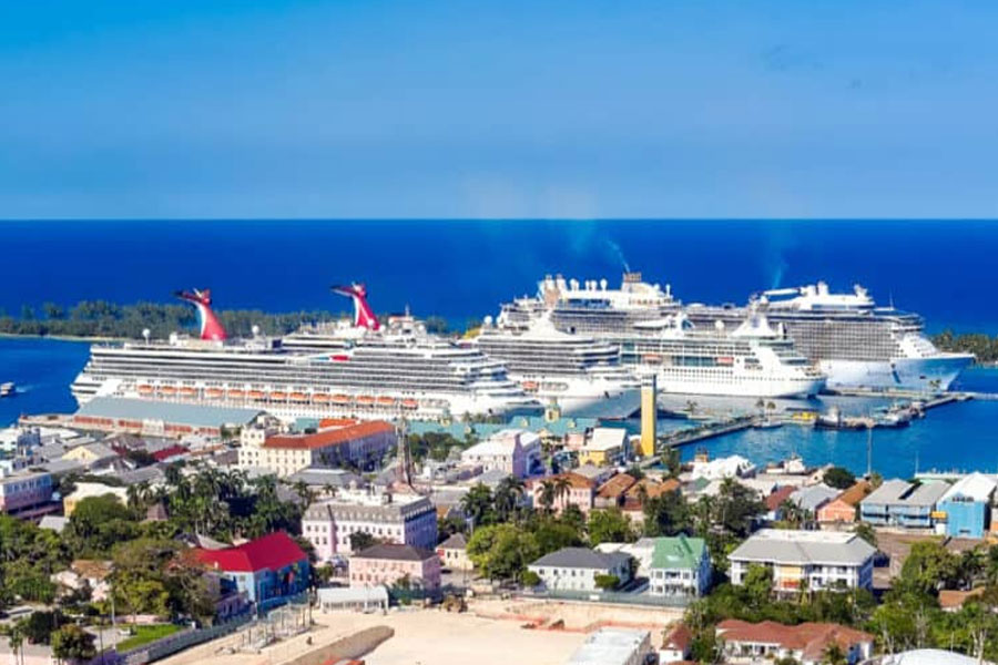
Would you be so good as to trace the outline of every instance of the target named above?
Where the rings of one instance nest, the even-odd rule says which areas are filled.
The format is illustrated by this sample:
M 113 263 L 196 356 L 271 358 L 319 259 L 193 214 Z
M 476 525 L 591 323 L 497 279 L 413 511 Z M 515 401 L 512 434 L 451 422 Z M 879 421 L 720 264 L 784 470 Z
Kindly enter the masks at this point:
M 787 626 L 773 621 L 748 623 L 727 618 L 717 624 L 717 637 L 732 663 L 794 658 L 801 665 L 819 665 L 831 645 L 837 645 L 852 665 L 873 653 L 874 636 L 832 623 Z

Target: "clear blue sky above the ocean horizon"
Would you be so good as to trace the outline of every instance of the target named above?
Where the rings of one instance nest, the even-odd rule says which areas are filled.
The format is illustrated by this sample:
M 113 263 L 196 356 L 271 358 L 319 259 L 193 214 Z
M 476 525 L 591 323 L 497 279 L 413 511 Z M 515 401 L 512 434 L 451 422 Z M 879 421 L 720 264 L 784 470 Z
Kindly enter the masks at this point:
M 998 4 L 0 3 L 2 217 L 994 217 Z

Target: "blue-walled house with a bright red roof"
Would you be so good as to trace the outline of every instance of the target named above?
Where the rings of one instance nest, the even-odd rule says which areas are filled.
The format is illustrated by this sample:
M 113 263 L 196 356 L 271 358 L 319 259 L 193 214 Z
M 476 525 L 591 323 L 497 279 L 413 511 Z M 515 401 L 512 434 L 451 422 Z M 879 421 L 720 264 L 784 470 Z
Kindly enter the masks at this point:
M 245 594 L 262 607 L 284 604 L 308 587 L 308 555 L 283 531 L 222 550 L 198 548 L 193 555 L 218 576 L 223 594 Z

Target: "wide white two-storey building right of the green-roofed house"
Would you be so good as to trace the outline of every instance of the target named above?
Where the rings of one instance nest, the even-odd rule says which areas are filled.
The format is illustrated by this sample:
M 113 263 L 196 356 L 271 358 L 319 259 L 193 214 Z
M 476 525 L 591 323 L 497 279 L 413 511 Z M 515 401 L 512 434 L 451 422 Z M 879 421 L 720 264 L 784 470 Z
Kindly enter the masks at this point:
M 876 548 L 849 532 L 762 529 L 727 555 L 732 584 L 752 565 L 773 572 L 777 592 L 870 589 Z

